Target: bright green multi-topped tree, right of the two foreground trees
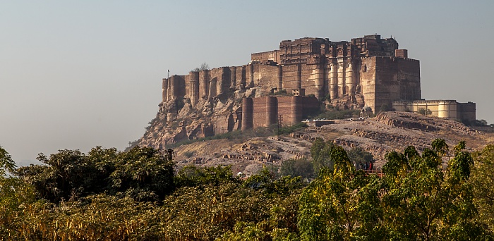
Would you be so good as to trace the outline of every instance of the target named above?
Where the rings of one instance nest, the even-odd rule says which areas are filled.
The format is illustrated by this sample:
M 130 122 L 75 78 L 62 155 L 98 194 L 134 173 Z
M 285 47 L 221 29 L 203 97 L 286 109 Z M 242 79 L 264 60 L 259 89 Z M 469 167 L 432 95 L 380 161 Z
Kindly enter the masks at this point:
M 404 153 L 390 152 L 382 170 L 385 228 L 393 240 L 470 240 L 485 235 L 474 218 L 472 187 L 468 182 L 473 165 L 464 142 L 454 147 L 447 170 L 441 168 L 448 153 L 444 140 L 420 155 L 414 147 Z

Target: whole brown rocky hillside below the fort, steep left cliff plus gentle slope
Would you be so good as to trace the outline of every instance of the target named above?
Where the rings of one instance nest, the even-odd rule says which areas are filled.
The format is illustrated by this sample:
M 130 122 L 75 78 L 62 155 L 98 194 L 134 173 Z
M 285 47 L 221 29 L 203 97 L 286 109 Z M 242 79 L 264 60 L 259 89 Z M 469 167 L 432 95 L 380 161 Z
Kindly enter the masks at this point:
M 263 165 L 274 163 L 278 166 L 287 159 L 309 157 L 311 141 L 317 137 L 332 140 L 347 149 L 363 147 L 378 160 L 376 167 L 382 166 L 385 154 L 391 150 L 402 151 L 414 145 L 421 151 L 435 138 L 445 139 L 450 147 L 466 140 L 471 150 L 494 140 L 492 133 L 479 132 L 455 121 L 407 112 L 381 112 L 374 118 L 363 120 L 335 120 L 331 125 L 306 128 L 281 137 L 266 136 L 266 133 L 263 137 L 256 137 L 255 132 L 240 134 L 241 99 L 265 94 L 265 90 L 253 87 L 200 99 L 195 106 L 188 99 L 164 102 L 159 104 L 156 118 L 134 145 L 164 149 L 169 144 L 226 133 L 233 123 L 238 137 L 201 140 L 175 147 L 176 161 L 178 166 L 192 163 L 200 166 L 232 165 L 235 172 L 250 174 Z

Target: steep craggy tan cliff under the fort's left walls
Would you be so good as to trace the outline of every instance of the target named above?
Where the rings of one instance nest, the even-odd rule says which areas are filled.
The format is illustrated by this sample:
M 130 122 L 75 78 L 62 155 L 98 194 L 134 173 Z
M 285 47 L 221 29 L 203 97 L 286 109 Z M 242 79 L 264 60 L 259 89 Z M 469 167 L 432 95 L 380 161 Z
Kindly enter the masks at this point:
M 143 137 L 133 145 L 165 148 L 165 145 L 240 130 L 243 97 L 262 97 L 261 88 L 239 89 L 200 99 L 193 107 L 190 99 L 171 99 L 159 104 Z

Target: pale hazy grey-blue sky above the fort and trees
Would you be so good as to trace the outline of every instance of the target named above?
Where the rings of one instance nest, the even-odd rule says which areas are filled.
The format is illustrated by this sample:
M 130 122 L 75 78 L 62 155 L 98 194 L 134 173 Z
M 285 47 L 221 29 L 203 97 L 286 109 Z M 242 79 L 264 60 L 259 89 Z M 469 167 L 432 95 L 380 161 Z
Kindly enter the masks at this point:
M 124 149 L 161 80 L 239 66 L 283 39 L 391 35 L 421 61 L 422 97 L 474 101 L 494 122 L 494 1 L 0 1 L 0 145 Z

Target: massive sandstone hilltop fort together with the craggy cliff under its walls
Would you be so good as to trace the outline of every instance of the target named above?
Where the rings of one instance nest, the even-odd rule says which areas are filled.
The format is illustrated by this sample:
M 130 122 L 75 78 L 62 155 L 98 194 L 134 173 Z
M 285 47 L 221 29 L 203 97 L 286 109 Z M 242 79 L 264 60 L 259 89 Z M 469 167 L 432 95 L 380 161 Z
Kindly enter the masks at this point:
M 193 70 L 162 80 L 162 103 L 140 144 L 192 140 L 233 130 L 293 125 L 327 107 L 395 109 L 475 121 L 474 103 L 421 98 L 420 62 L 394 38 L 304 37 L 251 54 L 243 66 Z

